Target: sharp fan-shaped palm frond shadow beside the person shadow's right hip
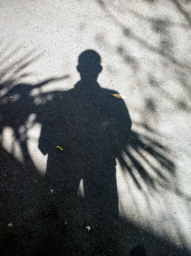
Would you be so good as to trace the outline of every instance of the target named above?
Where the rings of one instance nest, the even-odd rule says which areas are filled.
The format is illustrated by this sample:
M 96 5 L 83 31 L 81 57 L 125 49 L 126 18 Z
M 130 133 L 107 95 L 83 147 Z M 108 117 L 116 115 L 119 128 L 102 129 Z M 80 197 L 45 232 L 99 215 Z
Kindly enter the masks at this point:
M 167 155 L 168 149 L 157 140 L 131 131 L 118 161 L 123 174 L 128 172 L 140 190 L 148 186 L 153 190 L 172 189 L 175 165 Z

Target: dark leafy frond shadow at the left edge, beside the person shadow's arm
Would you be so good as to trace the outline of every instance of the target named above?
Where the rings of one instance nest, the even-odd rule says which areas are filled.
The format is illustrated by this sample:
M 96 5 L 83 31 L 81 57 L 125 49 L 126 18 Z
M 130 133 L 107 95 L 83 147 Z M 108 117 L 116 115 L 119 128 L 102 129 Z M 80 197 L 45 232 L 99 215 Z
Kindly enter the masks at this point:
M 16 52 L 16 55 L 19 52 Z M 10 54 L 11 55 L 11 54 Z M 12 70 L 9 65 L 1 65 L 0 77 L 0 134 L 1 144 L 6 144 L 4 148 L 19 161 L 25 162 L 28 166 L 33 166 L 29 149 L 27 146 L 28 133 L 34 122 L 43 111 L 44 104 L 52 100 L 51 93 L 44 93 L 41 97 L 38 93 L 43 86 L 50 86 L 51 83 L 64 81 L 69 75 L 61 77 L 51 77 L 38 83 L 21 82 L 30 74 L 25 68 L 38 60 L 41 54 L 28 53 L 19 59 L 16 69 Z M 9 57 L 9 56 L 8 56 Z M 15 56 L 14 56 L 15 57 Z M 2 61 L 3 63 L 3 61 Z M 5 63 L 5 62 L 4 62 Z M 21 70 L 19 72 L 19 70 Z M 35 93 L 34 93 L 35 92 Z M 12 97 L 13 96 L 13 97 Z M 9 97 L 12 97 L 11 99 Z M 9 134 L 9 142 L 3 142 L 3 134 Z M 16 151 L 19 150 L 19 154 Z M 17 156 L 16 156 L 17 155 Z

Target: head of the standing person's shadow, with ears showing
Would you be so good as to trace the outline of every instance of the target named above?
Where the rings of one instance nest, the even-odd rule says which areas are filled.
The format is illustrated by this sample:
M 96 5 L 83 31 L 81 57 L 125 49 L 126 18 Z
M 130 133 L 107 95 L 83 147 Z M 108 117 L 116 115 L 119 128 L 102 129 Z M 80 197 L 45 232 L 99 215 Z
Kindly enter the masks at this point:
M 95 82 L 102 71 L 101 57 L 93 50 L 87 50 L 79 55 L 77 70 L 81 81 Z

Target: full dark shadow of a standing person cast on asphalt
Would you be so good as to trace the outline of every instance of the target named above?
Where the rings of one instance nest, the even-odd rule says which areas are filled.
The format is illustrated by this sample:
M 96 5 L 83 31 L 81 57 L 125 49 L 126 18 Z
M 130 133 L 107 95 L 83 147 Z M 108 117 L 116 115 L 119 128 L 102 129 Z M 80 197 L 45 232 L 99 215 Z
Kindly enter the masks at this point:
M 98 248 L 107 245 L 109 253 L 115 247 L 116 158 L 130 136 L 131 119 L 124 101 L 111 96 L 117 92 L 99 86 L 102 66 L 95 51 L 80 54 L 77 70 L 81 80 L 57 93 L 39 120 L 39 148 L 48 153 L 47 200 L 69 227 L 68 254 L 96 255 Z

